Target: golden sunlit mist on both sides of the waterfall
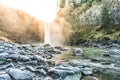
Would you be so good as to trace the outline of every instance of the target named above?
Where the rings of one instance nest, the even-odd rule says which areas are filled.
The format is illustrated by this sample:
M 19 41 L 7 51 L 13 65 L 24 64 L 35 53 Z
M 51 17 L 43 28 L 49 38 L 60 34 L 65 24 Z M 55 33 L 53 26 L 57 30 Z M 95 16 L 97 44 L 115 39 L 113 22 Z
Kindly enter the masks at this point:
M 0 5 L 0 31 L 7 33 L 7 38 L 19 43 L 44 42 L 44 22 L 28 13 Z M 70 24 L 62 17 L 50 23 L 52 44 L 61 45 L 69 40 Z

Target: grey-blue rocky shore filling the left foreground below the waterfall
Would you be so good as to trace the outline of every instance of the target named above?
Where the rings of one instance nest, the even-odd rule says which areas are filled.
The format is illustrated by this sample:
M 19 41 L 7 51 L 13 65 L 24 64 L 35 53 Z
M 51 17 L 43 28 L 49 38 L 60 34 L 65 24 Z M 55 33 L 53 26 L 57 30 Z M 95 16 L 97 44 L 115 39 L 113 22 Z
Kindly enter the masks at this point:
M 62 47 L 0 41 L 0 80 L 80 80 L 82 67 L 55 64 Z

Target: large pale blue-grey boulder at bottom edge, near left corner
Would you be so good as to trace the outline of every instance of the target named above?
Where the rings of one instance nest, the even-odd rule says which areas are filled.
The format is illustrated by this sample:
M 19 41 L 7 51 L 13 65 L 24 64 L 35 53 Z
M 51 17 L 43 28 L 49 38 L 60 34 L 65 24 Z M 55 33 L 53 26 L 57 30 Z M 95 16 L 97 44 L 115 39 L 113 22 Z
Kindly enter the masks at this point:
M 8 74 L 14 80 L 33 80 L 32 75 L 28 71 L 22 71 L 20 69 L 8 69 Z

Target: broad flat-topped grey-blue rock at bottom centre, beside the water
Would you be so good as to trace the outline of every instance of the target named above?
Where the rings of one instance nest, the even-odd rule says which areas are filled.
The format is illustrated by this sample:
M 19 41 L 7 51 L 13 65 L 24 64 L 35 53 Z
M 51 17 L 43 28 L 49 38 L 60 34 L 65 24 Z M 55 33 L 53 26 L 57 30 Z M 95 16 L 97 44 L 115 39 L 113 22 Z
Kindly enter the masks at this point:
M 81 71 L 77 67 L 58 66 L 51 68 L 48 72 L 49 76 L 58 80 L 80 80 Z

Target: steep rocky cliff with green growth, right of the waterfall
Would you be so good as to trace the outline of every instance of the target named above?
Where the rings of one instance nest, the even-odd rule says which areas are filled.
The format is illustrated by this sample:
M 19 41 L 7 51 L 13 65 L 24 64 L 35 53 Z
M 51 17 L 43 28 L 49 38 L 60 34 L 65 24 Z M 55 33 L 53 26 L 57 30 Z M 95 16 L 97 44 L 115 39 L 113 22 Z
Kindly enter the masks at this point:
M 60 0 L 58 16 L 72 26 L 70 42 L 120 40 L 120 0 Z M 114 36 L 115 35 L 115 36 Z

